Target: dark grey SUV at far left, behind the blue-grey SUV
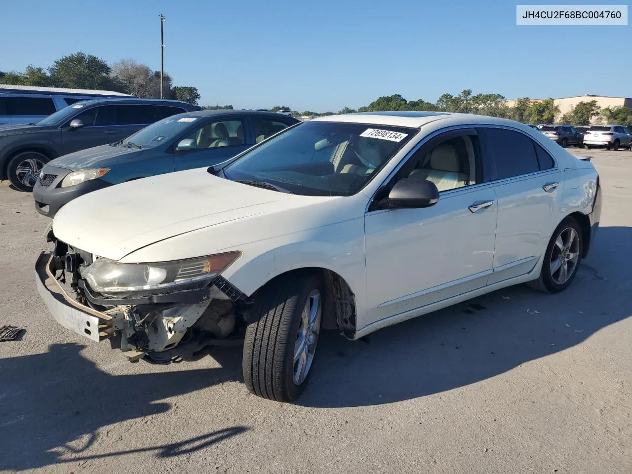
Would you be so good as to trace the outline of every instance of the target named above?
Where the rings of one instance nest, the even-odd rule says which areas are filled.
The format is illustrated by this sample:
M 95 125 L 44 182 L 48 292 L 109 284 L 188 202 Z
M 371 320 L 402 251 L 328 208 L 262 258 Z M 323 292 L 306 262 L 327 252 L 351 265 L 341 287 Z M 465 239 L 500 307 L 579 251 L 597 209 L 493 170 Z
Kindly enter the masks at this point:
M 0 180 L 31 191 L 42 166 L 54 158 L 118 142 L 150 123 L 200 108 L 180 100 L 85 100 L 37 123 L 0 128 Z

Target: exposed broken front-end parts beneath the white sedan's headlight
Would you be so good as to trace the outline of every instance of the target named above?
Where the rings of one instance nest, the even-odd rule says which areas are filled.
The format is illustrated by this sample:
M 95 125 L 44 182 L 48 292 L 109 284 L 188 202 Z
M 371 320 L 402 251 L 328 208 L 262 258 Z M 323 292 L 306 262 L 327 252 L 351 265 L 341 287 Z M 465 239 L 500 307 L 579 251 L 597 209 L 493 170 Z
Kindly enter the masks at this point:
M 207 346 L 242 343 L 250 303 L 221 276 L 169 291 L 99 293 L 86 278 L 93 256 L 56 240 L 52 232 L 48 240 L 55 244 L 52 276 L 67 296 L 102 315 L 100 339 L 110 339 L 112 348 L 120 348 L 131 361 L 195 360 Z

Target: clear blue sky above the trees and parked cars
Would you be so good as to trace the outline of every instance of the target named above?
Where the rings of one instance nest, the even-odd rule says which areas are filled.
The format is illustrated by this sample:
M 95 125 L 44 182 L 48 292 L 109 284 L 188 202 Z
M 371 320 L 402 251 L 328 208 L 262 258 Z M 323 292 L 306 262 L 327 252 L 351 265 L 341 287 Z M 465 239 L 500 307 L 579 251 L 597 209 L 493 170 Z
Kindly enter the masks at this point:
M 631 26 L 518 27 L 516 3 L 529 2 L 5 0 L 0 70 L 76 51 L 159 70 L 163 13 L 165 70 L 197 87 L 202 105 L 322 112 L 465 88 L 632 96 Z

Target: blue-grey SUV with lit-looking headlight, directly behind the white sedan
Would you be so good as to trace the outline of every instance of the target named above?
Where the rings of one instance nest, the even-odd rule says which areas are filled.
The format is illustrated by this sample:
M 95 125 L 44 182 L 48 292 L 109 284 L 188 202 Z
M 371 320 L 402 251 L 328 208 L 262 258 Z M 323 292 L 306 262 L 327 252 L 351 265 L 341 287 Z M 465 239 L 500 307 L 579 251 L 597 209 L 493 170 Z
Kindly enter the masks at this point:
M 212 166 L 298 123 L 272 112 L 197 111 L 178 114 L 137 133 L 48 162 L 33 188 L 35 209 L 53 217 L 81 195 L 133 179 Z

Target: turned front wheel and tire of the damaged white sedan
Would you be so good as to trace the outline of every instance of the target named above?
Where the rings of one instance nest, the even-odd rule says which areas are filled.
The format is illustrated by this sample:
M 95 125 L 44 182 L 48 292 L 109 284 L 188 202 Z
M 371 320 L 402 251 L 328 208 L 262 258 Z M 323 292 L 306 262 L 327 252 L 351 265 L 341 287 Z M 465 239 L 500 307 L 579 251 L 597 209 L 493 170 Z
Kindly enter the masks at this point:
M 258 293 L 243 346 L 244 382 L 262 398 L 295 401 L 309 380 L 318 342 L 322 281 L 315 274 L 292 274 Z

